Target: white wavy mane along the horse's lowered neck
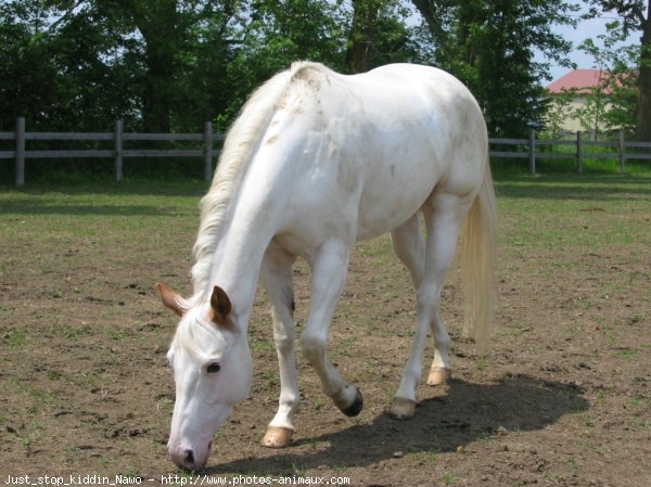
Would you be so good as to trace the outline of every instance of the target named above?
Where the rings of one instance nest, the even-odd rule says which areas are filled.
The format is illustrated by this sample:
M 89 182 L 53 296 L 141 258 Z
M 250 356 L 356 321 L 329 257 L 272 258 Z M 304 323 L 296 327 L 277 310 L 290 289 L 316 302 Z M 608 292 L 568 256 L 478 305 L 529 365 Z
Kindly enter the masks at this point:
M 273 76 L 251 95 L 230 128 L 210 189 L 200 203 L 201 222 L 192 249 L 195 264 L 192 267 L 194 296 L 190 299 L 191 303 L 203 298 L 207 292 L 213 254 L 228 216 L 229 203 L 241 176 L 246 172 L 255 148 L 281 105 L 292 80 L 310 68 L 326 69 L 320 64 L 297 62 L 289 71 Z

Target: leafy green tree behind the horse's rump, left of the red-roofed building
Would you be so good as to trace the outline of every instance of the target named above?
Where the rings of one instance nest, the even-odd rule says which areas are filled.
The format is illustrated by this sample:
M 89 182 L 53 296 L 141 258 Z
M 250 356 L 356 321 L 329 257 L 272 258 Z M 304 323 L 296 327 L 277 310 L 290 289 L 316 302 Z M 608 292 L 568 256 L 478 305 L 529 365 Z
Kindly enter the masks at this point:
M 439 66 L 463 80 L 484 108 L 494 137 L 524 134 L 542 121 L 547 99 L 541 81 L 549 63 L 534 50 L 569 64 L 571 43 L 552 31 L 573 24 L 576 7 L 539 0 L 413 0 L 436 49 Z

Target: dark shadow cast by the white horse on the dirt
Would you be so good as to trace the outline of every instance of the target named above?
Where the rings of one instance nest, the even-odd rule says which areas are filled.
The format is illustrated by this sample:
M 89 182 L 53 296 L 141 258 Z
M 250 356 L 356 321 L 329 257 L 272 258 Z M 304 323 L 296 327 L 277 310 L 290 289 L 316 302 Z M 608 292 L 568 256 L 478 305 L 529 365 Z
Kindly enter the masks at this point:
M 357 424 L 316 438 L 303 439 L 278 454 L 240 459 L 207 469 L 207 473 L 286 475 L 321 465 L 366 466 L 405 454 L 456 451 L 471 441 L 508 431 L 534 431 L 566 413 L 586 410 L 588 401 L 574 384 L 519 375 L 496 384 L 454 380 L 447 396 L 420 402 L 410 421 L 382 413 L 370 423 Z M 315 448 L 306 449 L 311 444 Z M 319 448 L 329 444 L 328 448 Z M 298 448 L 297 448 L 298 447 Z

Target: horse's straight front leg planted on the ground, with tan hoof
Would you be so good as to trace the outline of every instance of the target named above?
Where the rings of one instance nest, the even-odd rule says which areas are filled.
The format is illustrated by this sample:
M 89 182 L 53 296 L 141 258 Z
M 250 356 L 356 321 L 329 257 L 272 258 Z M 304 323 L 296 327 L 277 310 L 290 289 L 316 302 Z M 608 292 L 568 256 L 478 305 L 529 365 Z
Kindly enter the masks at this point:
M 298 384 L 294 354 L 294 286 L 292 266 L 295 256 L 271 243 L 260 269 L 260 281 L 267 291 L 273 319 L 273 339 L 280 369 L 278 412 L 267 427 L 263 446 L 283 448 L 292 443 L 294 414 L 298 408 Z

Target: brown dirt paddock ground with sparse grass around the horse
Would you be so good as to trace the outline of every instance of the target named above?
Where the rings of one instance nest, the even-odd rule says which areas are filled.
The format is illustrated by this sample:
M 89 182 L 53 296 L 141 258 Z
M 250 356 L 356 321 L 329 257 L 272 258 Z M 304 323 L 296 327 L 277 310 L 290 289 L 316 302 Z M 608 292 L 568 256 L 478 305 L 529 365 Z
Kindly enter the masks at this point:
M 413 420 L 390 419 L 413 334 L 414 293 L 386 238 L 362 242 L 330 355 L 362 392 L 365 410 L 342 415 L 298 356 L 295 441 L 284 450 L 259 446 L 279 384 L 258 293 L 253 389 L 217 434 L 202 474 L 336 476 L 366 487 L 651 485 L 651 195 L 575 198 L 563 209 L 571 218 L 550 201 L 532 218 L 518 209 L 518 191 L 501 188 L 506 236 L 487 359 L 462 338 L 452 270 L 444 318 L 454 379 L 420 386 Z M 176 320 L 153 284 L 166 280 L 188 294 L 195 202 L 178 208 L 135 198 L 93 213 L 74 197 L 58 206 L 14 206 L 12 197 L 0 217 L 0 482 L 120 474 L 156 485 L 181 475 L 166 451 L 174 381 L 165 353 Z M 604 241 L 622 219 L 646 228 L 647 238 Z M 559 227 L 583 232 L 588 243 L 560 236 L 558 245 L 539 244 Z M 295 274 L 302 328 L 309 269 L 301 262 Z

